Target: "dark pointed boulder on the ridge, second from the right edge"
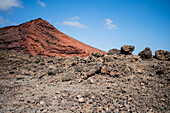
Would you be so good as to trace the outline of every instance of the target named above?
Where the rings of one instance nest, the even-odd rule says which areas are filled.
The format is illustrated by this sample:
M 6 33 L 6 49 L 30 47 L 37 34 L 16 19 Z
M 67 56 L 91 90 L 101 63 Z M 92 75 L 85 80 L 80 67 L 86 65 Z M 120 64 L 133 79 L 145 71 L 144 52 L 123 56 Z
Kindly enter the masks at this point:
M 152 58 L 152 51 L 150 50 L 149 47 L 146 47 L 143 51 L 139 52 L 138 55 L 142 59 L 149 59 Z

